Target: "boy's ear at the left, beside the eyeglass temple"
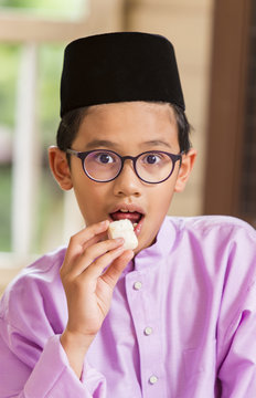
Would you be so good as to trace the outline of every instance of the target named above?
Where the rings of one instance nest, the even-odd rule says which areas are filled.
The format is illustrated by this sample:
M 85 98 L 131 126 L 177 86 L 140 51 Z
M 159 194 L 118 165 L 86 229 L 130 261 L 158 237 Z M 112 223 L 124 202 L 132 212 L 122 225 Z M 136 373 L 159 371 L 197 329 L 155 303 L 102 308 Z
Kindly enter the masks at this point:
M 51 146 L 49 148 L 49 163 L 52 174 L 60 187 L 64 190 L 72 189 L 73 182 L 66 154 L 56 146 Z

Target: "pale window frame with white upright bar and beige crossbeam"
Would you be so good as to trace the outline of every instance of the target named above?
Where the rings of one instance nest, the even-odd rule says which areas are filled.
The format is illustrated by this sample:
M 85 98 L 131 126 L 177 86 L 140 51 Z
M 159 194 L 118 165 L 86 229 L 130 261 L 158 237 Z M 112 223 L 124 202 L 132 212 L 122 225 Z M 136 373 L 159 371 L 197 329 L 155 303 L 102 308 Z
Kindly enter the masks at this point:
M 86 0 L 85 0 L 86 1 Z M 87 6 L 87 4 L 86 4 Z M 0 42 L 22 44 L 20 82 L 17 92 L 17 117 L 13 143 L 12 184 L 12 252 L 0 252 L 0 291 L 6 284 L 7 270 L 20 269 L 31 258 L 33 214 L 38 192 L 36 176 L 40 172 L 40 146 L 36 137 L 36 82 L 38 50 L 41 43 L 67 43 L 76 38 L 122 28 L 122 0 L 90 0 L 89 12 L 83 12 L 77 20 L 53 20 L 39 18 L 31 13 L 0 10 Z M 22 161 L 20 160 L 22 157 Z M 21 166 L 22 165 L 22 166 Z M 22 181 L 22 186 L 21 186 Z M 77 217 L 70 213 L 73 196 L 66 195 L 64 206 L 64 239 L 72 231 Z M 70 230 L 67 230 L 67 226 Z M 2 281 L 2 282 L 1 282 Z

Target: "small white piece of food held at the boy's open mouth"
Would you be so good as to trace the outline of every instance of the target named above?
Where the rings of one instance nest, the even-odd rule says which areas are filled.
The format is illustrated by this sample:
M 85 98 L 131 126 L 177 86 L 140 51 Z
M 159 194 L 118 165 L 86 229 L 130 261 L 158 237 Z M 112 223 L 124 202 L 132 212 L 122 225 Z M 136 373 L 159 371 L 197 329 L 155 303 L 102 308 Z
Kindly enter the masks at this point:
M 108 227 L 108 238 L 124 238 L 124 248 L 126 250 L 134 250 L 138 245 L 138 239 L 135 234 L 132 223 L 130 222 L 130 220 L 127 219 L 110 222 Z

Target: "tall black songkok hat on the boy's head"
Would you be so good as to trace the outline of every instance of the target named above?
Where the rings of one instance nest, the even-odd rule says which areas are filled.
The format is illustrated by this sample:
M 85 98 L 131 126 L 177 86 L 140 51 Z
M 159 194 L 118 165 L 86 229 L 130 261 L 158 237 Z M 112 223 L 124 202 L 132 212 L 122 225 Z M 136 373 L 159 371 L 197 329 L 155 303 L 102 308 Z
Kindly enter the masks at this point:
M 130 101 L 167 102 L 184 111 L 174 49 L 166 38 L 117 32 L 66 46 L 61 116 L 78 107 Z

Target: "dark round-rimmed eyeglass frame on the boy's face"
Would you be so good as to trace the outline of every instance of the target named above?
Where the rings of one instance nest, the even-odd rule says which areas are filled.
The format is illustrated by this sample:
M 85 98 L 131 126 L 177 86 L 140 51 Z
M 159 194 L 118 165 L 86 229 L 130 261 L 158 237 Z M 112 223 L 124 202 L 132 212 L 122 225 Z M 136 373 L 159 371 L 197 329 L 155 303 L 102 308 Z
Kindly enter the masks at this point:
M 117 174 L 114 178 L 110 178 L 110 179 L 108 179 L 108 180 L 102 181 L 102 180 L 97 180 L 97 179 L 93 178 L 93 177 L 89 176 L 88 172 L 86 171 L 85 163 L 84 163 L 85 158 L 86 158 L 89 154 L 92 154 L 92 153 L 94 153 L 94 151 L 98 151 L 98 150 L 104 150 L 104 151 L 107 151 L 107 153 L 110 153 L 110 154 L 115 154 L 115 155 L 121 160 L 120 170 L 118 171 L 118 174 Z M 126 161 L 127 159 L 130 159 L 130 160 L 132 160 L 132 166 L 134 166 L 134 170 L 135 170 L 136 176 L 137 176 L 141 181 L 147 182 L 147 184 L 161 184 L 161 182 L 164 182 L 168 178 L 171 177 L 171 175 L 172 175 L 172 172 L 173 172 L 173 170 L 174 170 L 174 167 L 175 167 L 177 161 L 180 160 L 180 166 L 181 166 L 182 155 L 184 154 L 184 151 L 181 151 L 180 154 L 171 154 L 171 153 L 168 153 L 168 151 L 164 151 L 164 150 L 146 150 L 146 151 L 143 151 L 143 153 L 137 155 L 137 156 L 129 156 L 129 155 L 127 155 L 127 156 L 121 156 L 121 155 L 117 154 L 115 150 L 103 149 L 103 148 L 92 149 L 92 150 L 86 150 L 86 151 L 78 151 L 78 150 L 74 150 L 74 149 L 67 148 L 67 149 L 65 150 L 65 153 L 66 153 L 66 154 L 70 154 L 70 155 L 74 155 L 74 156 L 76 156 L 77 158 L 79 158 L 81 161 L 82 161 L 82 167 L 83 167 L 83 170 L 84 170 L 85 175 L 86 175 L 90 180 L 93 180 L 93 181 L 95 181 L 95 182 L 110 182 L 110 181 L 115 180 L 115 179 L 121 174 L 121 170 L 122 170 L 122 168 L 124 168 L 125 161 Z M 168 155 L 168 156 L 171 158 L 171 160 L 172 160 L 172 169 L 171 169 L 170 174 L 168 175 L 168 177 L 166 177 L 163 180 L 157 181 L 157 182 L 147 181 L 147 180 L 145 180 L 143 178 L 141 178 L 141 177 L 139 176 L 138 171 L 137 171 L 137 168 L 136 168 L 137 159 L 138 159 L 141 155 L 152 154 L 152 153 L 158 153 L 158 154 Z

